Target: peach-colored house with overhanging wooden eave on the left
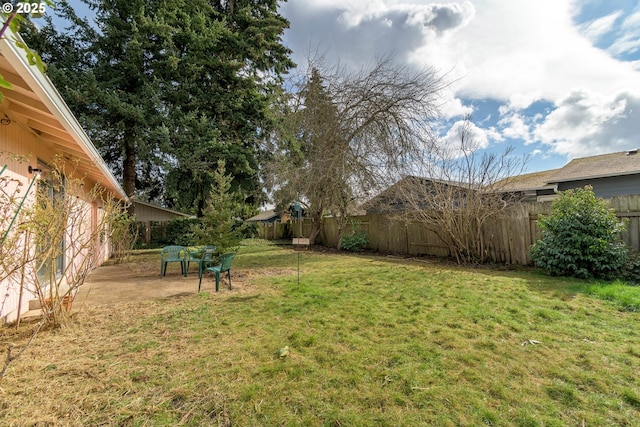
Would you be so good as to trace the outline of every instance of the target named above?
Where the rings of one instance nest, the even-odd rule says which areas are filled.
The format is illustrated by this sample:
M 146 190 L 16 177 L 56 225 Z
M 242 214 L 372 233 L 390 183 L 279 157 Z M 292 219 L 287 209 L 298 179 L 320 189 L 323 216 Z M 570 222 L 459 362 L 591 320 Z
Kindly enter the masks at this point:
M 22 183 L 17 199 L 22 200 L 26 194 L 26 209 L 33 205 L 37 188 L 34 183 L 27 193 L 34 179 L 34 174 L 29 173 L 29 166 L 39 168 L 41 164 L 51 164 L 57 156 L 69 161 L 67 171 L 74 170 L 73 177 L 83 180 L 84 193 L 77 200 L 80 219 L 68 224 L 65 232 L 66 257 L 62 270 L 72 274 L 83 263 L 90 260 L 93 267 L 111 254 L 110 242 L 104 237 L 108 235 L 106 233 L 92 242 L 91 249 L 98 256 L 95 259 L 87 256 L 91 249 L 87 249 L 84 243 L 91 234 L 95 235 L 89 232 L 97 229 L 102 217 L 101 206 L 88 197 L 90 190 L 100 184 L 110 197 L 123 201 L 128 199 L 55 87 L 43 73 L 28 64 L 25 52 L 16 47 L 14 37 L 20 40 L 16 34 L 6 34 L 0 39 L 0 74 L 13 86 L 10 90 L 1 89 L 4 99 L 0 103 L 0 170 L 5 164 L 6 168 L 0 178 Z M 5 190 L 11 194 L 15 186 L 11 182 Z M 5 207 L 15 209 L 13 205 Z M 10 212 L 9 219 L 1 224 L 3 230 L 7 229 L 14 214 Z M 6 214 L 4 216 L 7 217 Z M 14 224 L 11 230 L 15 231 L 16 227 Z M 2 234 L 0 238 L 4 237 L 4 232 Z M 13 247 L 8 246 L 2 246 L 2 256 L 20 256 L 35 251 L 34 248 L 25 248 L 24 240 L 13 242 Z M 73 264 L 70 260 L 74 260 Z M 25 264 L 24 270 L 11 274 L 0 271 L 0 322 L 12 322 L 28 309 L 29 300 L 34 298 L 35 268 L 35 263 L 30 263 Z

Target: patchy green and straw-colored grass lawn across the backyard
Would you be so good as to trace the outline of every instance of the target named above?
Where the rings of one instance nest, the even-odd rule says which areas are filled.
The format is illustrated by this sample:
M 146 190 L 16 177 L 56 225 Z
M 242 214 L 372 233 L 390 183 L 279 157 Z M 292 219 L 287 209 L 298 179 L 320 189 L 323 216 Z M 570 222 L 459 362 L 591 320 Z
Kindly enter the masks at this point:
M 298 284 L 294 250 L 254 242 L 239 290 L 42 333 L 0 383 L 0 425 L 640 425 L 640 287 L 300 259 Z

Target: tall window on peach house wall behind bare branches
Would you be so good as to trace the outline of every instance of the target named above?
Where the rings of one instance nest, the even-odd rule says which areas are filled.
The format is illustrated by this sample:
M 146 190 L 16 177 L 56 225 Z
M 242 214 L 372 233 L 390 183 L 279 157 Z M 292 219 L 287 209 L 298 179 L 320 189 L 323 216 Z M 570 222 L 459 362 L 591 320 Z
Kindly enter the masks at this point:
M 56 178 L 51 173 L 51 167 L 38 161 L 38 168 L 42 171 L 38 181 L 37 203 L 45 209 L 55 209 L 62 206 L 64 201 L 64 177 Z M 62 181 L 62 182 L 61 182 Z M 64 230 L 52 224 L 52 233 L 47 233 L 36 248 L 36 262 L 38 265 L 38 279 L 46 284 L 52 278 L 59 277 L 64 269 L 65 241 Z

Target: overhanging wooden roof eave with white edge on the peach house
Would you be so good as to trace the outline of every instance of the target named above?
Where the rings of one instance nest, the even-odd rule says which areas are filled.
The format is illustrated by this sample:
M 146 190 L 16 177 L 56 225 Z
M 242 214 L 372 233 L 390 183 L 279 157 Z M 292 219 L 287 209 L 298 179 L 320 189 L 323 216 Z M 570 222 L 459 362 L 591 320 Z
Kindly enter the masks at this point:
M 11 37 L 0 40 L 0 74 L 13 85 L 2 89 L 0 111 L 25 130 L 36 135 L 56 153 L 78 160 L 78 172 L 127 200 L 127 196 L 98 153 L 84 129 L 49 78 L 29 65 L 26 53 Z

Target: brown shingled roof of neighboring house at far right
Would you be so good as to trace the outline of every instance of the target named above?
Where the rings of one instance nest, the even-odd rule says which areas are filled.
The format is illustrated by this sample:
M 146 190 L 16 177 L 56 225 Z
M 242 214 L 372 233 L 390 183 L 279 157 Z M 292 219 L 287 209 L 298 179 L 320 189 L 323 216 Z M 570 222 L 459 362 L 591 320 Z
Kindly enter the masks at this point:
M 599 156 L 573 159 L 548 182 L 579 181 L 620 175 L 640 174 L 640 152 L 637 149 Z

